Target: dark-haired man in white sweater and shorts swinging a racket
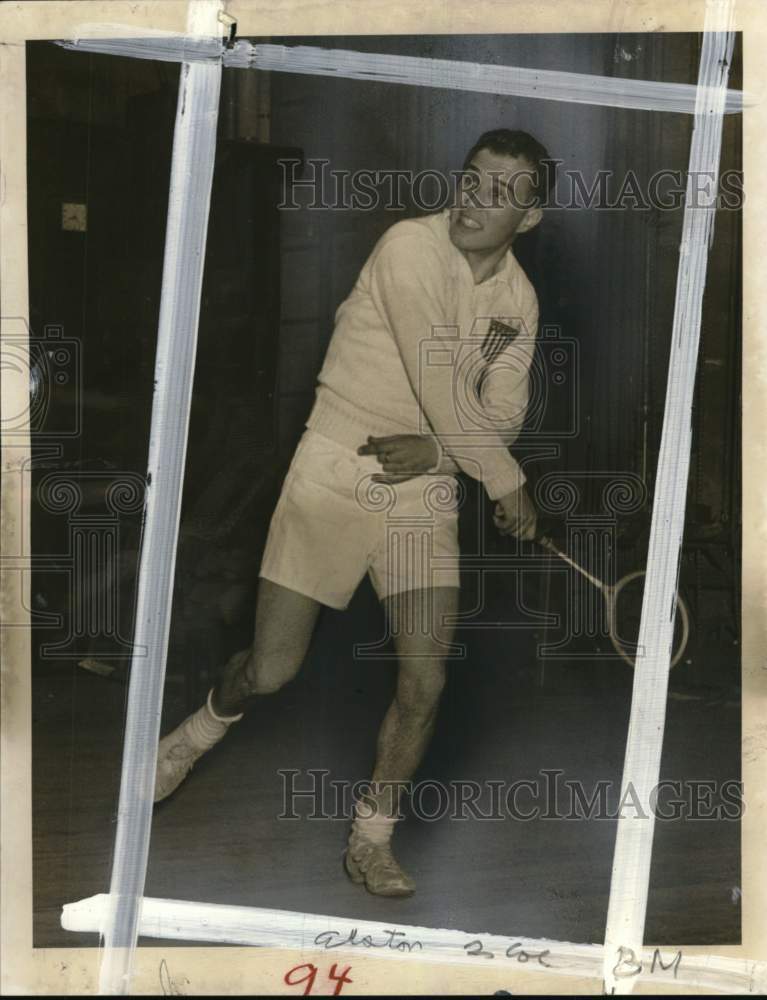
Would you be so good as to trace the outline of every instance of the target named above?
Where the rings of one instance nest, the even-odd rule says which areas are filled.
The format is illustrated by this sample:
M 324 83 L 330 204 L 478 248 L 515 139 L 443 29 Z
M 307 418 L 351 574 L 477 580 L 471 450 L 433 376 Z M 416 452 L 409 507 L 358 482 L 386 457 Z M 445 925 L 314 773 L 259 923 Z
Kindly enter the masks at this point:
M 457 205 L 401 221 L 373 248 L 319 374 L 316 401 L 275 509 L 255 636 L 207 703 L 160 741 L 155 801 L 298 673 L 322 605 L 346 608 L 366 573 L 398 659 L 370 794 L 355 804 L 345 866 L 373 893 L 414 891 L 390 841 L 399 788 L 434 729 L 458 610 L 456 474 L 481 480 L 502 534 L 536 513 L 509 452 L 527 408 L 538 321 L 515 238 L 537 225 L 548 155 L 524 132 L 482 135 Z

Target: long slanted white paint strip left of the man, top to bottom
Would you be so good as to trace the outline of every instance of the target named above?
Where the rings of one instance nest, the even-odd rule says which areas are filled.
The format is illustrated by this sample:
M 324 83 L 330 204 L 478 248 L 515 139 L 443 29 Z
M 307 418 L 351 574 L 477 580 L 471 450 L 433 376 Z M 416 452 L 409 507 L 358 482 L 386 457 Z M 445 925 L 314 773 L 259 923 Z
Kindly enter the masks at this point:
M 189 6 L 190 33 L 217 30 L 219 0 Z M 99 993 L 130 991 L 152 832 L 197 329 L 216 153 L 221 62 L 182 63 L 173 135 L 147 488 L 117 833 Z

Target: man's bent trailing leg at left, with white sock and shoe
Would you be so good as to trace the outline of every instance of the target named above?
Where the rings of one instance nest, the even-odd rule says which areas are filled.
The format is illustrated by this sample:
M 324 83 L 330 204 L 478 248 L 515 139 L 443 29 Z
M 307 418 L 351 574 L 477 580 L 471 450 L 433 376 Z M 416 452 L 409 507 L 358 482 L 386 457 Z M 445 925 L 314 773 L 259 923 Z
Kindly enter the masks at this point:
M 178 788 L 199 758 L 242 717 L 252 698 L 272 694 L 301 669 L 321 605 L 271 580 L 258 581 L 253 643 L 235 653 L 208 701 L 160 740 L 155 802 Z

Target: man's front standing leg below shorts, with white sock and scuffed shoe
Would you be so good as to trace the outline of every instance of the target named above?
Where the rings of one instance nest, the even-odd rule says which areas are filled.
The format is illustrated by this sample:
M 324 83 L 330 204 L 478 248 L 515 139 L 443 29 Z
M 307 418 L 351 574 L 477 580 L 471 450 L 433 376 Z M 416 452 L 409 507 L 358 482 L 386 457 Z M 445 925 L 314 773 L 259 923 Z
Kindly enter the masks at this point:
M 437 587 L 384 601 L 399 659 L 397 690 L 378 733 L 370 793 L 356 809 L 346 867 L 378 895 L 404 896 L 413 880 L 391 854 L 389 841 L 401 786 L 421 763 L 434 732 L 445 684 L 445 657 L 458 610 L 458 589 Z

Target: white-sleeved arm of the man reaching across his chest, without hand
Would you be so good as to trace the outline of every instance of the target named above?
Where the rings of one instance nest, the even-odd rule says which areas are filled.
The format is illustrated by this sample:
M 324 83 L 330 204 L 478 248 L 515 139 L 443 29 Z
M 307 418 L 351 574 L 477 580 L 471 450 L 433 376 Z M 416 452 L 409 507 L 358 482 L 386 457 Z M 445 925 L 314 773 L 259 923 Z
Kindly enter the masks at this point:
M 451 456 L 469 476 L 481 479 L 490 499 L 504 497 L 525 481 L 503 437 L 492 426 L 481 440 L 459 420 L 452 365 L 423 365 L 421 345 L 449 327 L 449 278 L 427 241 L 401 236 L 385 243 L 373 262 L 371 294 L 399 348 L 410 384 L 437 438 L 450 440 Z M 444 336 L 444 334 L 442 334 Z M 446 338 L 447 340 L 447 338 Z M 455 347 L 455 341 L 448 341 Z M 465 443 L 464 443 L 465 442 Z

